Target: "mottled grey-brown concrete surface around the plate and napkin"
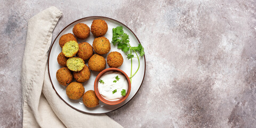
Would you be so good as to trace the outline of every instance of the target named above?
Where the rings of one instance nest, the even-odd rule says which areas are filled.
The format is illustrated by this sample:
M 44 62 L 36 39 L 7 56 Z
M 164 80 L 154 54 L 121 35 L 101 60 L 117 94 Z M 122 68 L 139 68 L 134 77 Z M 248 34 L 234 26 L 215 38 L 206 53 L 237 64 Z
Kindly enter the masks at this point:
M 70 22 L 102 15 L 123 22 L 146 52 L 146 77 L 109 114 L 124 127 L 255 127 L 256 2 L 1 1 L 0 127 L 22 127 L 21 63 L 27 21 L 56 6 L 53 39 Z

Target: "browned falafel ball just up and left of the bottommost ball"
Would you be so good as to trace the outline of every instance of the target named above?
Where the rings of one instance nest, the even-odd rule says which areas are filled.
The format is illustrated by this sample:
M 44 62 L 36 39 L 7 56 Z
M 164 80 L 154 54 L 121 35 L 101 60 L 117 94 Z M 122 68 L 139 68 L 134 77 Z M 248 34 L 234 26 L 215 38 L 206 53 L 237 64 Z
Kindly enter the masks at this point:
M 84 86 L 82 83 L 72 82 L 67 86 L 66 94 L 68 98 L 77 100 L 83 97 L 84 94 Z

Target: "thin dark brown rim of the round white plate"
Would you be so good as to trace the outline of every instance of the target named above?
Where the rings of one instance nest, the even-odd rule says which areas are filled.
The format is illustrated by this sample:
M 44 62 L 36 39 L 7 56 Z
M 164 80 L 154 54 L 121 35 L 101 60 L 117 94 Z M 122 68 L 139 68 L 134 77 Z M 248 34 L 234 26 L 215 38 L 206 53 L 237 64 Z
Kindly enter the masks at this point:
M 60 98 L 63 102 L 65 102 L 69 107 L 71 107 L 71 108 L 73 108 L 73 109 L 75 109 L 75 110 L 77 110 L 77 111 L 79 111 L 79 112 L 81 112 L 81 113 L 85 113 L 85 114 L 91 114 L 91 115 L 106 114 L 106 113 L 110 113 L 111 111 L 114 111 L 114 110 L 117 110 L 117 109 L 123 107 L 124 105 L 126 105 L 126 103 L 130 102 L 130 101 L 134 98 L 134 96 L 138 93 L 138 91 L 140 90 L 140 87 L 141 87 L 141 85 L 142 85 L 142 83 L 143 83 L 143 81 L 144 81 L 145 74 L 146 74 L 146 58 L 145 58 L 145 54 L 144 54 L 143 57 L 144 57 L 144 61 L 145 61 L 145 70 L 144 70 L 144 75 L 143 75 L 142 82 L 141 82 L 141 84 L 140 84 L 139 89 L 138 89 L 137 92 L 133 95 L 133 97 L 132 97 L 128 102 L 124 103 L 124 105 L 122 105 L 121 107 L 116 108 L 116 109 L 111 110 L 111 111 L 108 111 L 108 112 L 106 112 L 106 113 L 87 113 L 87 112 L 85 112 L 85 111 L 79 110 L 79 109 L 77 109 L 77 108 L 75 108 L 75 107 L 69 105 L 68 102 L 66 102 L 65 100 L 63 100 L 63 99 L 60 97 L 60 95 L 58 94 L 58 92 L 55 90 L 55 88 L 54 88 L 54 86 L 53 86 L 52 79 L 51 79 L 51 75 L 50 75 L 50 69 L 49 69 L 49 58 L 50 58 L 50 54 L 51 54 L 51 51 L 52 51 L 52 46 L 53 46 L 53 44 L 55 43 L 56 39 L 60 36 L 60 34 L 62 33 L 62 31 L 65 30 L 65 29 L 66 29 L 67 27 L 69 27 L 70 25 L 72 25 L 73 23 L 79 21 L 79 20 L 89 19 L 89 18 L 105 18 L 105 19 L 109 19 L 109 20 L 116 21 L 116 22 L 120 23 L 121 25 L 123 25 L 124 27 L 126 27 L 127 29 L 129 29 L 129 30 L 132 32 L 132 34 L 137 38 L 138 42 L 140 43 L 138 37 L 133 33 L 133 31 L 132 31 L 129 27 L 127 27 L 127 26 L 124 25 L 122 22 L 119 22 L 119 21 L 117 21 L 117 20 L 115 20 L 115 19 L 108 18 L 108 17 L 102 17 L 102 16 L 91 16 L 91 17 L 85 17 L 85 18 L 81 18 L 81 19 L 75 20 L 75 21 L 69 23 L 69 25 L 67 25 L 65 28 L 63 28 L 63 29 L 60 31 L 60 33 L 55 37 L 53 43 L 51 44 L 51 48 L 50 48 L 49 55 L 48 55 L 48 61 L 47 61 L 48 74 L 49 74 L 50 81 L 51 81 L 51 84 L 52 84 L 52 87 L 53 87 L 54 91 L 55 91 L 56 94 L 59 96 L 59 98 Z M 140 44 L 141 44 L 141 43 L 140 43 Z

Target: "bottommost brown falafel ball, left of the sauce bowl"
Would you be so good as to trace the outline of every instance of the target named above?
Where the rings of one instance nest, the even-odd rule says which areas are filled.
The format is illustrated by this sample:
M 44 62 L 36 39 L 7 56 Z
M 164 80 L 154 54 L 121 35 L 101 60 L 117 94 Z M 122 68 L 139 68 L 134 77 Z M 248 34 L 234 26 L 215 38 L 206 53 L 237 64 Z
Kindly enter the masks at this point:
M 99 99 L 94 91 L 89 90 L 83 95 L 83 103 L 86 107 L 93 108 L 99 105 Z

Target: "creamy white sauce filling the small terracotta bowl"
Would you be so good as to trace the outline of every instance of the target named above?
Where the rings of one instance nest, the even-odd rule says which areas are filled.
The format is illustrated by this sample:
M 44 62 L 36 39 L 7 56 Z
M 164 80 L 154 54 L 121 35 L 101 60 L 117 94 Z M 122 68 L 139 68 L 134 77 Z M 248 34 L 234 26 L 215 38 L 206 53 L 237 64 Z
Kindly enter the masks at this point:
M 116 80 L 116 76 L 118 76 L 120 79 Z M 101 96 L 106 100 L 117 101 L 121 99 L 123 97 L 121 94 L 121 91 L 123 89 L 127 93 L 127 90 L 128 90 L 127 79 L 119 71 L 109 71 L 103 74 L 100 77 L 100 79 L 104 82 L 104 84 L 99 82 L 98 90 Z M 113 81 L 116 81 L 116 83 Z M 113 94 L 114 90 L 116 90 L 116 92 Z

